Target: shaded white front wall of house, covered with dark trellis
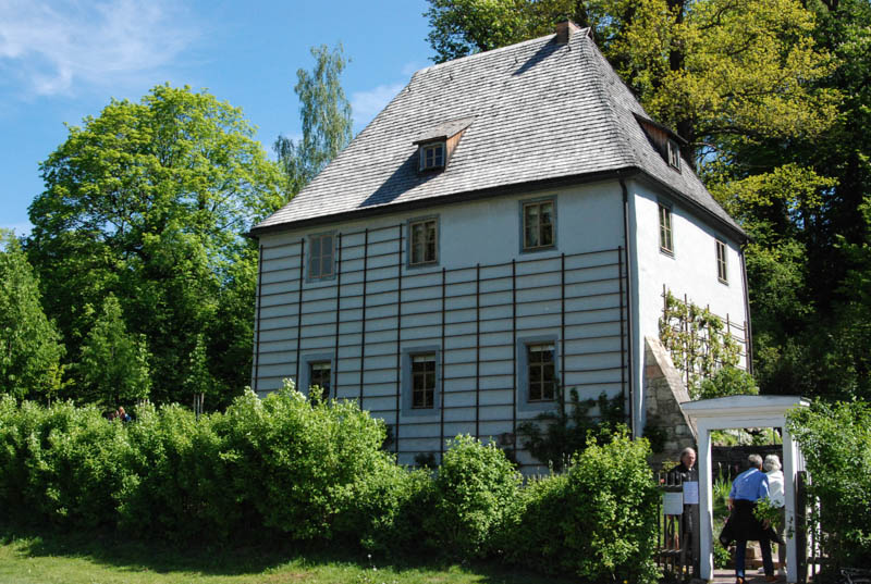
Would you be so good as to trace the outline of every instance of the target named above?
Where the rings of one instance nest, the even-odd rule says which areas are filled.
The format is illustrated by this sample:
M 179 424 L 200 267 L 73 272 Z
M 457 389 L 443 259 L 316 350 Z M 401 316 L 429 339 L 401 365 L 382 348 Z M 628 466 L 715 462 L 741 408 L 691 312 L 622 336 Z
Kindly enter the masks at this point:
M 541 197 L 556 200 L 556 247 L 540 252 L 520 251 L 520 201 Z M 557 353 L 565 360 L 565 387 L 578 387 L 582 398 L 601 392 L 617 395 L 621 377 L 619 311 L 614 308 L 618 284 L 616 253 L 576 256 L 584 252 L 614 250 L 624 246 L 623 198 L 616 182 L 577 186 L 557 190 L 506 196 L 498 199 L 439 206 L 427 210 L 394 213 L 366 221 L 319 225 L 306 229 L 267 234 L 260 238 L 262 284 L 259 290 L 259 346 L 255 356 L 257 377 L 253 380 L 260 395 L 281 385 L 282 378 L 296 376 L 296 302 L 299 281 L 299 241 L 314 233 L 335 232 L 342 240 L 342 298 L 339 323 L 338 383 L 340 398 L 356 399 L 360 386 L 363 338 L 364 229 L 369 229 L 366 283 L 366 344 L 364 408 L 396 423 L 398 388 L 397 339 L 393 327 L 397 320 L 400 226 L 407 238 L 406 221 L 439 216 L 439 263 L 433 266 L 405 265 L 403 244 L 402 334 L 400 351 L 416 347 L 438 347 L 444 353 L 444 419 L 441 412 L 400 420 L 402 451 L 436 451 L 443 424 L 444 436 L 476 433 L 475 361 L 476 264 L 481 264 L 480 291 L 486 296 L 480 308 L 480 360 L 477 434 L 499 436 L 511 432 L 515 412 L 513 358 L 515 345 L 511 330 L 511 261 L 517 260 L 516 337 L 555 337 L 561 334 L 560 257 L 566 258 L 566 343 Z M 293 256 L 296 256 L 293 258 Z M 531 260 L 531 262 L 530 262 Z M 499 265 L 493 265 L 499 264 Z M 449 298 L 445 301 L 445 335 L 441 346 L 441 278 L 449 270 Z M 465 269 L 461 271 L 452 271 Z M 541 273 L 551 272 L 551 273 Z M 303 285 L 303 334 L 300 358 L 335 358 L 335 279 L 306 282 Z M 584 298 L 572 298 L 573 296 Z M 483 298 L 483 297 L 482 297 Z M 502 306 L 499 306 L 502 305 Z M 487 320 L 492 319 L 492 320 Z M 636 355 L 638 355 L 636 352 Z M 562 363 L 561 363 L 562 365 Z M 302 368 L 303 365 L 300 365 Z M 635 368 L 640 369 L 639 365 Z M 640 387 L 640 386 L 639 386 Z M 532 418 L 536 411 L 517 409 L 517 420 Z M 520 445 L 518 444 L 518 447 Z M 532 459 L 518 451 L 522 462 Z M 413 455 L 401 457 L 413 462 Z

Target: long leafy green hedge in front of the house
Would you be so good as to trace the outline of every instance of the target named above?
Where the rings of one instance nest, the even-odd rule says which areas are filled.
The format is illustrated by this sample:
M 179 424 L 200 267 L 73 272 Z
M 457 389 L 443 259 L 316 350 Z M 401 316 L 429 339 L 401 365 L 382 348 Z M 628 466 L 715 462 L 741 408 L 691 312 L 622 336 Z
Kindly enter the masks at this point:
M 591 444 L 565 474 L 522 487 L 492 444 L 458 436 L 438 471 L 414 471 L 382 450 L 385 436 L 354 402 L 309 401 L 290 386 L 199 420 L 144 406 L 127 424 L 4 396 L 0 513 L 131 537 L 283 534 L 589 580 L 653 577 L 646 440 Z

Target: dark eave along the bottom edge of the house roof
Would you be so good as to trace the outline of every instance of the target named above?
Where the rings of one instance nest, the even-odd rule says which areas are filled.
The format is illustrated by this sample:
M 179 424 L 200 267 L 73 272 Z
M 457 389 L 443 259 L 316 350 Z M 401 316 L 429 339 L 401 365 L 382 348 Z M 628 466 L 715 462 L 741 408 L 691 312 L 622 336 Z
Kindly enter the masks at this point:
M 504 185 L 499 187 L 489 187 L 478 190 L 466 190 L 463 192 L 455 192 L 453 195 L 446 195 L 444 197 L 434 197 L 434 198 L 425 198 L 418 199 L 413 201 L 406 201 L 401 203 L 394 204 L 381 204 L 378 207 L 369 207 L 364 209 L 354 209 L 352 211 L 345 211 L 343 213 L 334 213 L 331 215 L 320 215 L 317 218 L 300 220 L 300 221 L 292 221 L 287 223 L 278 223 L 274 225 L 267 225 L 265 227 L 255 227 L 250 232 L 246 233 L 247 237 L 258 238 L 261 235 L 267 235 L 270 233 L 283 232 L 289 229 L 297 229 L 300 227 L 311 227 L 316 225 L 324 225 L 328 223 L 338 223 L 341 221 L 354 221 L 358 219 L 366 219 L 370 216 L 377 215 L 385 215 L 390 213 L 395 213 L 398 211 L 408 211 L 414 209 L 422 209 L 432 207 L 433 204 L 451 204 L 455 202 L 464 202 L 464 201 L 473 201 L 478 199 L 486 199 L 490 197 L 499 197 L 504 195 L 513 195 L 516 192 L 523 192 L 528 190 L 541 190 L 545 188 L 553 188 L 553 187 L 561 187 L 561 186 L 568 186 L 568 185 L 578 185 L 578 184 L 586 184 L 586 183 L 597 183 L 600 181 L 606 181 L 609 178 L 630 178 L 631 176 L 642 175 L 646 178 L 652 181 L 660 187 L 666 189 L 670 195 L 679 198 L 682 202 L 687 203 L 695 210 L 701 212 L 704 216 L 713 219 L 719 225 L 731 232 L 732 234 L 737 236 L 737 239 L 740 241 L 747 240 L 747 234 L 745 234 L 740 228 L 736 229 L 735 226 L 728 224 L 727 222 L 723 221 L 723 219 L 716 216 L 714 213 L 706 209 L 704 207 L 696 203 L 689 197 L 682 195 L 679 191 L 675 190 L 674 188 L 670 187 L 665 183 L 661 182 L 657 177 L 652 176 L 651 174 L 645 172 L 637 166 L 624 166 L 621 169 L 610 170 L 610 171 L 602 171 L 597 173 L 585 173 L 585 174 L 574 174 L 568 176 L 560 176 L 556 178 L 543 178 L 541 181 L 530 181 L 525 183 L 517 183 L 514 185 Z

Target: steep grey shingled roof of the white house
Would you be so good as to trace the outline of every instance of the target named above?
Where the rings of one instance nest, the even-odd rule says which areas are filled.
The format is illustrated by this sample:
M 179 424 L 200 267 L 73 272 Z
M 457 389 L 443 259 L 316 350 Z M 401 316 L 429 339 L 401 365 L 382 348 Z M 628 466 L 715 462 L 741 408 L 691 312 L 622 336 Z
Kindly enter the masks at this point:
M 252 234 L 640 171 L 744 236 L 688 164 L 682 172 L 668 166 L 635 115 L 649 119 L 588 29 L 567 45 L 550 35 L 433 65 L 415 73 L 323 172 Z M 418 173 L 414 142 L 446 134 L 457 121 L 468 125 L 447 167 Z

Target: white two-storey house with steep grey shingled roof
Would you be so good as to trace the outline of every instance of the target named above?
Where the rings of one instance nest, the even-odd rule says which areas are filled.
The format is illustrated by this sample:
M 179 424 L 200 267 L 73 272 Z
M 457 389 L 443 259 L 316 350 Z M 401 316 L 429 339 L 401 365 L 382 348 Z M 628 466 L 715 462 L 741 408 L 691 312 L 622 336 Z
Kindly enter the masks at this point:
M 383 418 L 401 462 L 523 450 L 556 392 L 645 427 L 663 288 L 744 323 L 746 236 L 572 23 L 418 71 L 260 244 L 253 387 Z

